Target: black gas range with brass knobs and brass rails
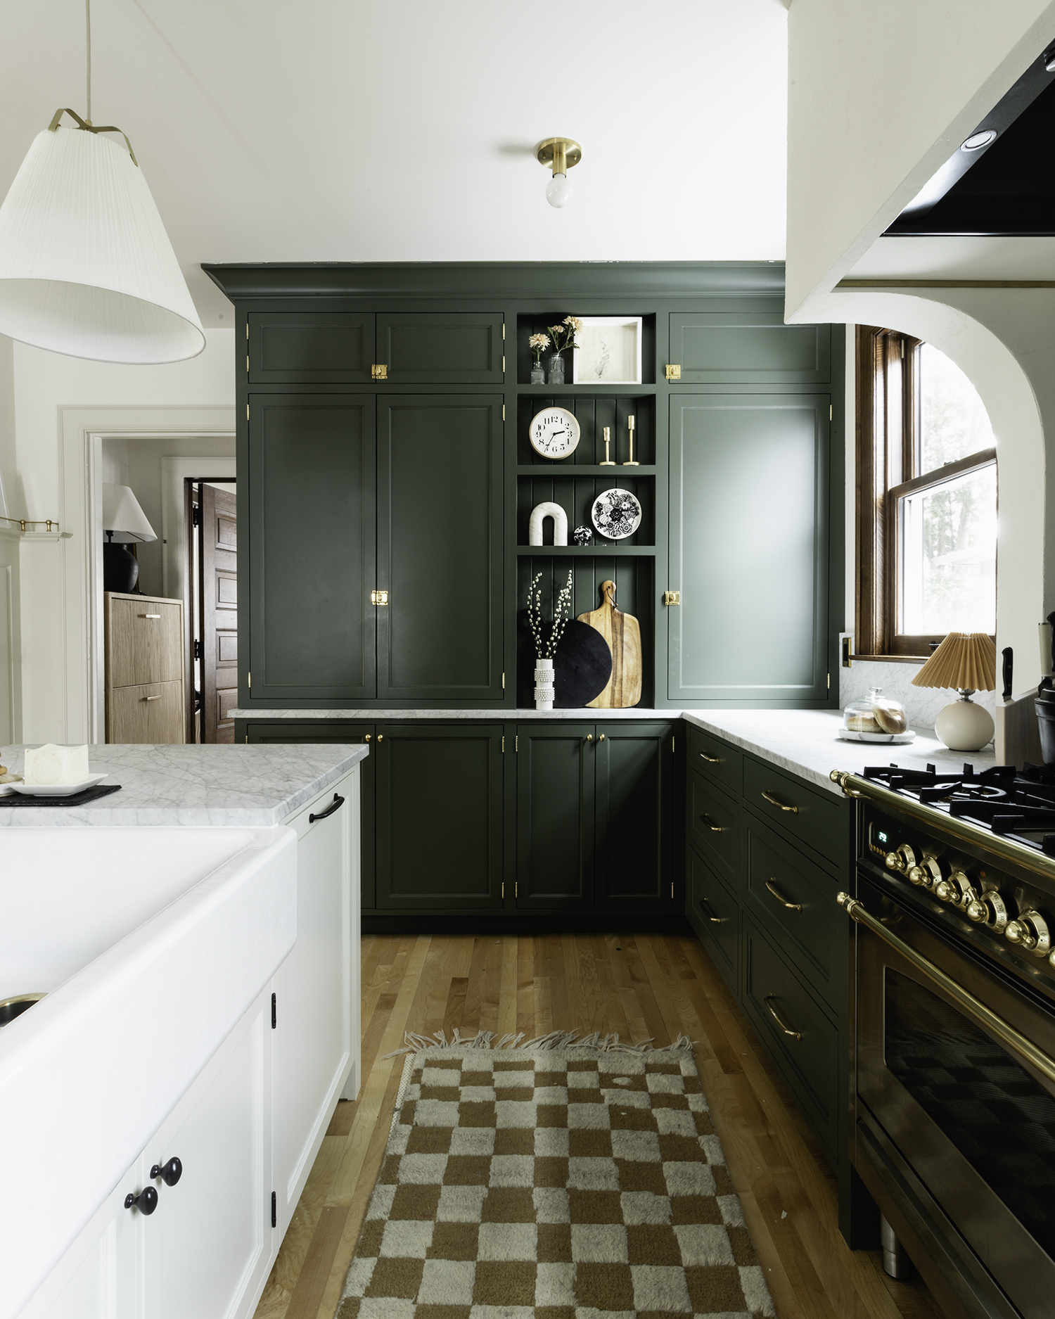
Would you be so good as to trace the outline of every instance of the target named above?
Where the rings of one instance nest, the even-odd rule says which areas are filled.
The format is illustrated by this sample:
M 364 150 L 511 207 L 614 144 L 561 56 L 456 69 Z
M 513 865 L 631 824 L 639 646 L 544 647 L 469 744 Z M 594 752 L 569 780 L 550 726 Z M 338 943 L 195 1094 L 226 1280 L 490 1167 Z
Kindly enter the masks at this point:
M 859 803 L 853 1165 L 947 1314 L 1047 1319 L 1055 776 L 831 777 Z

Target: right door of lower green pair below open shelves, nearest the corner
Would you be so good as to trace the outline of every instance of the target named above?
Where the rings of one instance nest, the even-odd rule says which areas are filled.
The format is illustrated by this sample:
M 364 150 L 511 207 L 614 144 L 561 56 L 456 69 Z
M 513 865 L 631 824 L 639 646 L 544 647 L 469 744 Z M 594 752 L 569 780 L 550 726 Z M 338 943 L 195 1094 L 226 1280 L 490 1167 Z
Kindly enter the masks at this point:
M 596 761 L 596 906 L 670 907 L 674 725 L 599 723 Z

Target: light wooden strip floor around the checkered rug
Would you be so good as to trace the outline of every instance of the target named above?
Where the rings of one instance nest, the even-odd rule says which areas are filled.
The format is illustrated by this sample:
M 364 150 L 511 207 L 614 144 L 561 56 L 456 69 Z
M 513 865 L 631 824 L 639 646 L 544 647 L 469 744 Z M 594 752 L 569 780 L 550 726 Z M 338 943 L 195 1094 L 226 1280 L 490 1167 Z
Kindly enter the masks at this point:
M 851 1252 L 835 1179 L 746 1018 L 695 938 L 546 935 L 363 940 L 363 1089 L 323 1140 L 257 1319 L 334 1319 L 385 1148 L 404 1031 L 576 1028 L 657 1045 L 699 1041 L 696 1062 L 779 1319 L 940 1319 L 918 1281 Z

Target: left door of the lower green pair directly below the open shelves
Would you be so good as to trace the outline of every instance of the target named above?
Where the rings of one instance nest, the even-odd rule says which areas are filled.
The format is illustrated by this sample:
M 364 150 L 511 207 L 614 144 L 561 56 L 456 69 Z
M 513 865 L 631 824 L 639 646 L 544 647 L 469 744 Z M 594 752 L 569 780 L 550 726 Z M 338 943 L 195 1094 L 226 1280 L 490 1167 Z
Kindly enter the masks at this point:
M 516 753 L 517 907 L 592 907 L 593 724 L 520 724 Z

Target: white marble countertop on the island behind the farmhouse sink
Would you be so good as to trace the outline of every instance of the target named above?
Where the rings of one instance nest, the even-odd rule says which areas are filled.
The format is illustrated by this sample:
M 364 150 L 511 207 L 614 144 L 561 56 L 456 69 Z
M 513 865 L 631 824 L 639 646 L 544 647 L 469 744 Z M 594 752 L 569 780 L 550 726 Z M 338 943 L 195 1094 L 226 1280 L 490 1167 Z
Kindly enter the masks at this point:
M 3 762 L 21 773 L 24 747 Z M 92 773 L 120 783 L 83 806 L 5 806 L 0 827 L 55 824 L 281 824 L 363 760 L 363 745 L 92 745 Z

